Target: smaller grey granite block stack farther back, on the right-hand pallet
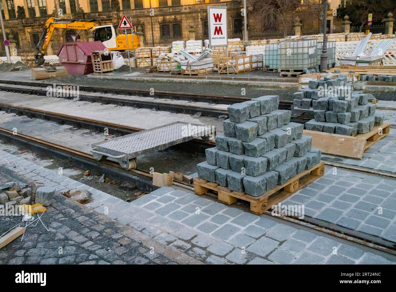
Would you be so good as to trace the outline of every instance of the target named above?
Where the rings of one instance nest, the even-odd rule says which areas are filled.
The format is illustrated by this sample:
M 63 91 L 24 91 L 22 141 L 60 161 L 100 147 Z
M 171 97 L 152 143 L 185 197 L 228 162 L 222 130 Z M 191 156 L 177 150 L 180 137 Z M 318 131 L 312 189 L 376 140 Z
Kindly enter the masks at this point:
M 336 90 L 325 92 L 325 85 L 327 88 L 349 86 L 350 94 L 337 96 Z M 370 94 L 353 92 L 350 84 L 346 83 L 346 75 L 337 79 L 310 80 L 308 88 L 297 91 L 294 98 L 294 105 L 316 109 L 314 119 L 305 123 L 305 128 L 310 131 L 356 136 L 371 131 L 374 126 L 382 125 L 385 117 L 375 113 L 377 105 L 369 103 Z

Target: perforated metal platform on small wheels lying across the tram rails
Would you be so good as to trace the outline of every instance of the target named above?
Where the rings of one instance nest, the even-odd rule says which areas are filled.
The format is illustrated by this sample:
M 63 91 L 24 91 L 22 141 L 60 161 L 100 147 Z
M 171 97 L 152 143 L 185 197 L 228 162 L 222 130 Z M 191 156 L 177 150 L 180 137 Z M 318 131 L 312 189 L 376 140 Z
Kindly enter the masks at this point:
M 91 145 L 91 152 L 97 160 L 103 159 L 104 156 L 110 157 L 116 159 L 122 167 L 130 169 L 134 168 L 130 160 L 140 155 L 162 150 L 198 137 L 212 140 L 215 135 L 216 128 L 213 126 L 174 122 L 94 143 Z

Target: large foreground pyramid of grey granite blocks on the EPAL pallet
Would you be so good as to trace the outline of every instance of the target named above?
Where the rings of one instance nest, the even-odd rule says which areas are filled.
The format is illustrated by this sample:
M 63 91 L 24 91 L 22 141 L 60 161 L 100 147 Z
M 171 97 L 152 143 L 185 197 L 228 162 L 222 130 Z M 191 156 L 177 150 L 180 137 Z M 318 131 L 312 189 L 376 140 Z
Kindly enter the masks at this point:
M 278 110 L 279 96 L 261 96 L 228 106 L 224 133 L 197 165 L 201 179 L 235 192 L 260 196 L 320 162 L 304 126 L 290 123 L 291 111 Z

